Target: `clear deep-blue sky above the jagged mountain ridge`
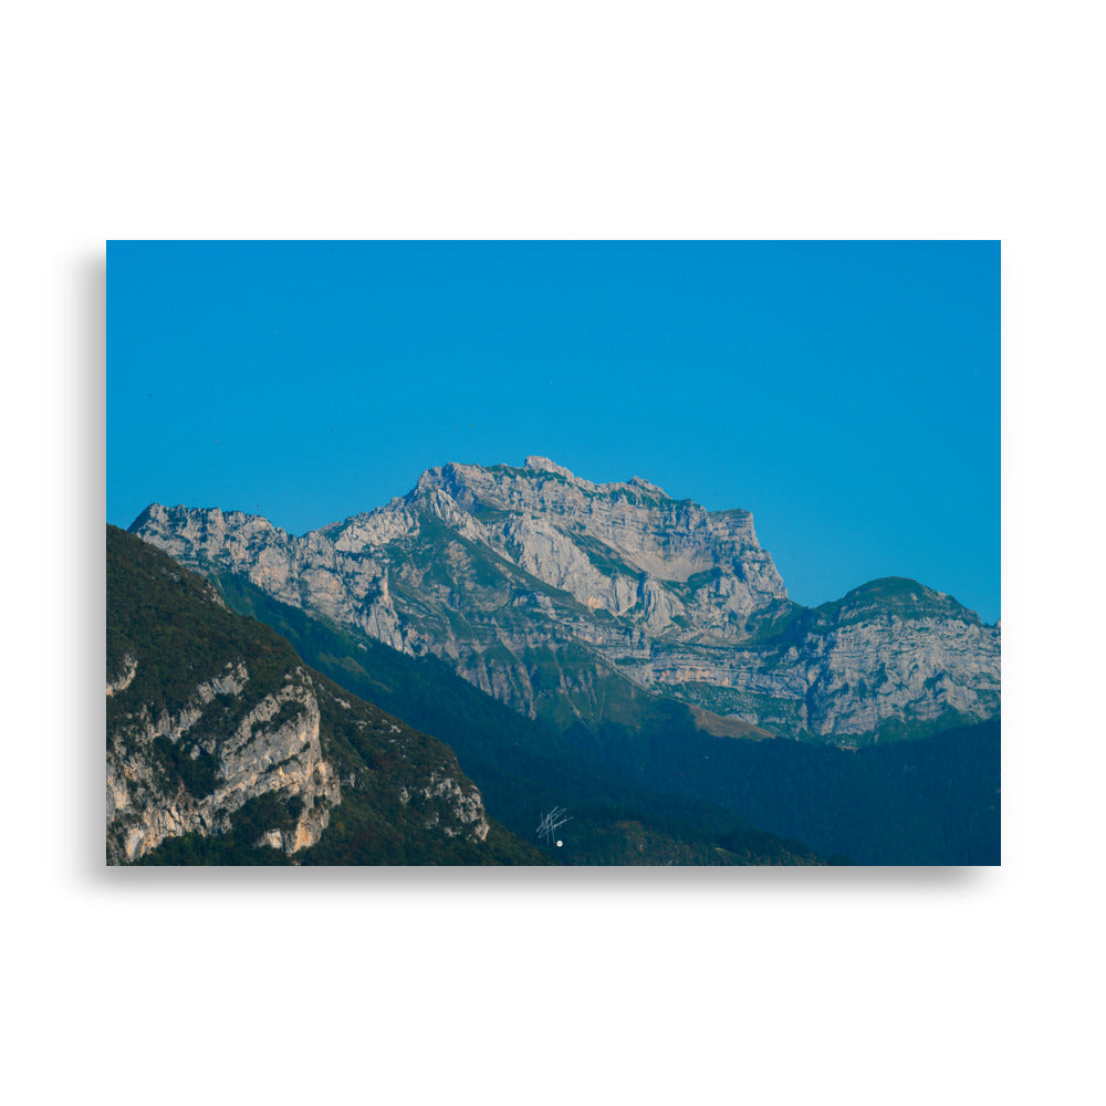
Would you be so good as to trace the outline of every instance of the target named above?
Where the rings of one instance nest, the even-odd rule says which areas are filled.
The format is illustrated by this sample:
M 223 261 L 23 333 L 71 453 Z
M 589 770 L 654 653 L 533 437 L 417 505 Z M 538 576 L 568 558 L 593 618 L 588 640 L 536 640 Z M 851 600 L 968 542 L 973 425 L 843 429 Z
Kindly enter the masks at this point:
M 107 521 L 293 533 L 542 453 L 753 512 L 792 598 L 999 617 L 998 242 L 111 242 Z

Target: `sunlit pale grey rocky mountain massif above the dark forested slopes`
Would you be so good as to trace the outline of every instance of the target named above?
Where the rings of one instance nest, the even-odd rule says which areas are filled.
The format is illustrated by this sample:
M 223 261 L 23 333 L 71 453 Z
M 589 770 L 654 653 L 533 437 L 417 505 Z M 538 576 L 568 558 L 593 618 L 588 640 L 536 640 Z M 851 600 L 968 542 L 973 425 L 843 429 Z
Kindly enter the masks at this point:
M 637 477 L 593 483 L 547 458 L 430 469 L 403 499 L 302 538 L 158 504 L 132 530 L 562 723 L 615 717 L 627 681 L 844 744 L 999 706 L 999 630 L 948 596 L 906 581 L 807 612 L 748 511 L 708 512 Z

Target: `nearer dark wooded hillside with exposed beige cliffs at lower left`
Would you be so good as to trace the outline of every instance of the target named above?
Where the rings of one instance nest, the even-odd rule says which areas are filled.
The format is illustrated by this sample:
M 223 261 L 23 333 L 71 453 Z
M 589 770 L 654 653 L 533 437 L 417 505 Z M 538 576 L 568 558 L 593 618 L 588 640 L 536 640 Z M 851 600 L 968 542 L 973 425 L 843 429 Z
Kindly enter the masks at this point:
M 185 540 L 209 549 L 234 533 L 226 520 L 222 532 L 215 520 L 191 521 Z M 279 559 L 255 551 L 276 586 Z M 388 825 L 385 845 L 420 863 L 436 863 L 436 842 L 486 847 L 483 801 L 441 742 L 340 693 L 268 627 L 217 604 L 209 584 L 113 529 L 107 576 L 109 864 L 186 835 L 295 858 L 320 844 L 343 804 L 357 825 Z M 409 823 L 395 816 L 408 807 Z M 355 842 L 327 863 L 395 863 L 387 847 L 368 847 Z M 479 853 L 449 855 L 483 863 Z

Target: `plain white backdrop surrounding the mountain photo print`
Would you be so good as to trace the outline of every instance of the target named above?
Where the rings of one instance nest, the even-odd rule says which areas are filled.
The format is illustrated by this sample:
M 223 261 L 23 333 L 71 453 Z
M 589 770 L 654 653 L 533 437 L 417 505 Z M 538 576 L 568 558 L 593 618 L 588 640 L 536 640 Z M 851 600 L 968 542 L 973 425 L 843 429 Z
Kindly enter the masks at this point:
M 1085 1102 L 1089 3 L 42 3 L 4 33 L 13 1102 Z M 102 867 L 104 240 L 1001 238 L 1002 868 Z

